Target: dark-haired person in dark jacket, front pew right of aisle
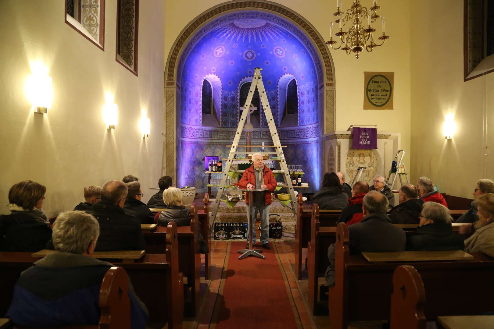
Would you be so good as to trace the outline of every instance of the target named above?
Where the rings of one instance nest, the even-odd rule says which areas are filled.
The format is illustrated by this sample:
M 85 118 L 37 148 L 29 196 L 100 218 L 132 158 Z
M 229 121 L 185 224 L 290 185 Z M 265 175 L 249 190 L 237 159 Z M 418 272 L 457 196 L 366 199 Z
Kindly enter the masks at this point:
M 319 209 L 343 209 L 348 203 L 348 195 L 343 191 L 338 176 L 326 173 L 323 188 L 314 193 L 312 201 L 319 205 Z

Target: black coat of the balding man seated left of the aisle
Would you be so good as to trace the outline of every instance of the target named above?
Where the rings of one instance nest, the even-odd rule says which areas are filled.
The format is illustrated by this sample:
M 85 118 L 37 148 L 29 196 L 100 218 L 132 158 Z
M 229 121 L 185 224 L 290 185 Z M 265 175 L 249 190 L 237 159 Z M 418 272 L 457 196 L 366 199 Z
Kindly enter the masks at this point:
M 146 250 L 141 223 L 119 206 L 95 203 L 91 215 L 99 222 L 94 251 Z

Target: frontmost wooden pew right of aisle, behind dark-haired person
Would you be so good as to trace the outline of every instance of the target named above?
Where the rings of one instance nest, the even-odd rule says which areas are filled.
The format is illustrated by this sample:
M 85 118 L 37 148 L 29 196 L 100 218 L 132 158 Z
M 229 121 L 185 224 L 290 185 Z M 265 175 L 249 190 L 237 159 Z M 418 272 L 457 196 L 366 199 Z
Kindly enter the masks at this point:
M 311 209 L 303 209 L 302 193 L 297 194 L 297 222 L 295 226 L 295 275 L 302 279 L 302 248 L 311 239 Z M 320 225 L 336 226 L 341 210 L 320 210 Z

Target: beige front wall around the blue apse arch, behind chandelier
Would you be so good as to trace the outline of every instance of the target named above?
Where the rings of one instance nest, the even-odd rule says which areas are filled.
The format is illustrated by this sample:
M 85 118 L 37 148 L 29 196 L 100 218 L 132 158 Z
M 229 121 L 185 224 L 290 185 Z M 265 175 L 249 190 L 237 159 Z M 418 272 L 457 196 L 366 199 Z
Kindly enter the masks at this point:
M 209 7 L 220 0 L 182 0 L 166 2 L 165 59 L 181 31 Z M 329 22 L 336 11 L 335 1 L 278 0 L 304 17 L 325 39 L 329 39 Z M 350 0 L 343 1 L 348 7 Z M 364 6 L 371 0 L 363 0 Z M 386 31 L 391 36 L 386 44 L 360 59 L 341 50 L 330 50 L 334 61 L 336 86 L 336 130 L 346 130 L 351 124 L 375 124 L 380 131 L 401 133 L 401 147 L 407 151 L 405 164 L 410 167 L 410 16 L 407 0 L 379 0 L 381 15 L 386 16 Z M 405 10 L 404 10 L 405 9 Z M 176 13 L 180 12 L 180 15 Z M 381 31 L 380 21 L 374 24 Z M 334 30 L 333 30 L 334 31 Z M 377 40 L 379 41 L 379 40 Z M 394 72 L 394 110 L 362 110 L 364 72 Z

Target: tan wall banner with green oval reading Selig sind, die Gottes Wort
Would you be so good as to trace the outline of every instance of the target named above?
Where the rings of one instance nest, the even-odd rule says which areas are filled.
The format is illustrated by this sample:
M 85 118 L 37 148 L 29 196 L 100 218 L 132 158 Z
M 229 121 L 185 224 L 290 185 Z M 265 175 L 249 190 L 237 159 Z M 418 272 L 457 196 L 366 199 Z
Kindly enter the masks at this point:
M 364 72 L 364 110 L 393 110 L 394 72 Z

